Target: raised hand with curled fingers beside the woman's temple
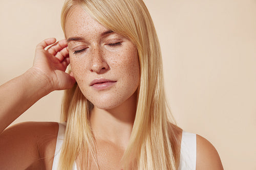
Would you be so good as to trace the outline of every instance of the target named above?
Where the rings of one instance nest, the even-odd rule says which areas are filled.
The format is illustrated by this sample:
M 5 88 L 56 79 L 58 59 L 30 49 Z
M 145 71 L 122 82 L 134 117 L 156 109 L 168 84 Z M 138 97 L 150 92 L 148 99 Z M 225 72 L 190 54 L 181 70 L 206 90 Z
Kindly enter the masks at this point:
M 65 72 L 70 63 L 67 42 L 65 39 L 55 42 L 55 38 L 48 38 L 36 46 L 31 68 L 40 81 L 46 81 L 51 91 L 69 89 L 75 83 L 72 74 Z M 51 46 L 45 50 L 49 45 Z

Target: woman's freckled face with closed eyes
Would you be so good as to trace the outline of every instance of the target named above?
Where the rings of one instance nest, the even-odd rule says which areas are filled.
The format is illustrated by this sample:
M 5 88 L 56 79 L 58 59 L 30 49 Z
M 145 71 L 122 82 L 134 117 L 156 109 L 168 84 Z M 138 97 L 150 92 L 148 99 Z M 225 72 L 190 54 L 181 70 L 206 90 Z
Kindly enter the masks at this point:
M 70 12 L 65 31 L 74 77 L 95 107 L 111 109 L 136 95 L 140 69 L 137 48 L 129 39 L 106 29 L 79 6 Z

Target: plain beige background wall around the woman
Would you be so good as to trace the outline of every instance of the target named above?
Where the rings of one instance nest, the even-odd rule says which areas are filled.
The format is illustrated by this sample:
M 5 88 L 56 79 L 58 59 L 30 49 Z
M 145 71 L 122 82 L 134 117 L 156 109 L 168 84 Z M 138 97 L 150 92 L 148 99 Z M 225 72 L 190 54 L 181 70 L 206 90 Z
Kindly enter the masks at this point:
M 0 84 L 33 62 L 42 39 L 63 38 L 63 0 L 0 1 Z M 225 169 L 256 169 L 256 1 L 145 0 L 159 35 L 178 125 L 206 137 Z M 58 121 L 62 91 L 20 116 Z

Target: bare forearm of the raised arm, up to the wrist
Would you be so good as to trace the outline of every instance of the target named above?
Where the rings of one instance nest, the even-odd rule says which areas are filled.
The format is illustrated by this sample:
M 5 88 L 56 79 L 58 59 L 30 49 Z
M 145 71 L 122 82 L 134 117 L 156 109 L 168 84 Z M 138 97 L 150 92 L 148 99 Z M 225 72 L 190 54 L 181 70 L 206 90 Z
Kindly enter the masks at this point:
M 49 80 L 29 69 L 0 86 L 0 134 L 36 101 L 51 92 Z

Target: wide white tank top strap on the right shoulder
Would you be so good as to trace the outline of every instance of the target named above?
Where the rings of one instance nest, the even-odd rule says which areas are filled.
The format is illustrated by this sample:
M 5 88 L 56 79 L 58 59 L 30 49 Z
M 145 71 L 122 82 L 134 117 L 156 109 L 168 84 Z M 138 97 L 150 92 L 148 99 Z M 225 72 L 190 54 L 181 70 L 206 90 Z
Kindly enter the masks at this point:
M 196 170 L 197 135 L 182 131 L 179 170 Z

